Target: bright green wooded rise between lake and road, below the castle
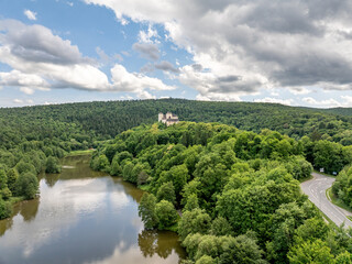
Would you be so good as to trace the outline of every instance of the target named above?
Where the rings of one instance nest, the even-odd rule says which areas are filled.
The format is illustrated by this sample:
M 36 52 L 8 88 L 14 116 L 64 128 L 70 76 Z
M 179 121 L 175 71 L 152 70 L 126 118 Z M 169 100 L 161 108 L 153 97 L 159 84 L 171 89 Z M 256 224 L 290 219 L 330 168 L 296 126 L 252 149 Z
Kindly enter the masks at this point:
M 145 228 L 176 230 L 186 263 L 350 263 L 351 237 L 300 191 L 312 170 L 305 156 L 319 161 L 319 144 L 219 123 L 155 123 L 100 146 L 91 167 L 148 191 Z

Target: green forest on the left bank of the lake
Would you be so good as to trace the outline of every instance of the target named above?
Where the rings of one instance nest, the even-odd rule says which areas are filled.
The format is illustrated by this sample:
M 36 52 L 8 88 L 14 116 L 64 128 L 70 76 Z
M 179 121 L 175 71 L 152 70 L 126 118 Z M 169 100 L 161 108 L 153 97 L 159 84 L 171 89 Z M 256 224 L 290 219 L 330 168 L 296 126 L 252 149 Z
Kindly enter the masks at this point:
M 13 110 L 15 114 L 0 111 L 0 219 L 10 216 L 12 202 L 36 196 L 36 176 L 43 168 L 46 173 L 58 173 L 58 158 L 65 153 L 97 144 L 92 142 L 96 139 L 92 132 L 75 123 Z

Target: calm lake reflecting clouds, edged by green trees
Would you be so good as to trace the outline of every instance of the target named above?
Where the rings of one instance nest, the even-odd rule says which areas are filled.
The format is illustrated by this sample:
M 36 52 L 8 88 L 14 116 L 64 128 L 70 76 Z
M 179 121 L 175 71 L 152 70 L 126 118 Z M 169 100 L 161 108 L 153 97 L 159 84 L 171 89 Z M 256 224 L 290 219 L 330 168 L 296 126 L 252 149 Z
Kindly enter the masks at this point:
M 41 197 L 0 221 L 0 263 L 178 263 L 172 232 L 143 230 L 142 191 L 89 168 L 89 156 L 67 157 L 61 175 L 41 175 Z

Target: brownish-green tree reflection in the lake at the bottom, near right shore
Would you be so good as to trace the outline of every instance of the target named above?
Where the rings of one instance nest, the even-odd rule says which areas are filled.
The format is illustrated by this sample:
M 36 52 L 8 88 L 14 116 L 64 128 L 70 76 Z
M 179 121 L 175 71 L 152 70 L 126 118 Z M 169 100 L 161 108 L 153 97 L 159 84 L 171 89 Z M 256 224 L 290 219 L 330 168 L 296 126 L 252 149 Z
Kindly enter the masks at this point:
M 185 258 L 185 251 L 174 232 L 143 230 L 139 234 L 139 246 L 144 257 L 152 257 L 156 253 L 166 258 L 175 251 L 179 258 Z

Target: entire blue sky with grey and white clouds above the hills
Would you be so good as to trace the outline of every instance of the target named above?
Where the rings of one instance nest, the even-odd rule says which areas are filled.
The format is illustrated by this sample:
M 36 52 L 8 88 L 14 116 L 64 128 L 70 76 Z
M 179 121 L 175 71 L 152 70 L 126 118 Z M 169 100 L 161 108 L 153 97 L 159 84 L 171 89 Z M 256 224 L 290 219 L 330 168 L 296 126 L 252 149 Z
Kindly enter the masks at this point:
M 0 107 L 352 107 L 351 0 L 1 0 Z

